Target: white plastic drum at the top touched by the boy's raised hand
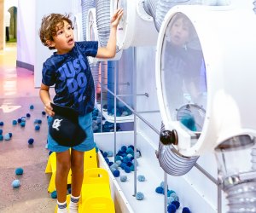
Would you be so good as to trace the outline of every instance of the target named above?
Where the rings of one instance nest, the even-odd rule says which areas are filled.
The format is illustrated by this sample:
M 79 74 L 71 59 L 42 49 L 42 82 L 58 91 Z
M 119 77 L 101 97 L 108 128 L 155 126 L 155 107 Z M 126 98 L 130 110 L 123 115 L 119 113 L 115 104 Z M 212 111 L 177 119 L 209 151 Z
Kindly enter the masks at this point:
M 119 49 L 156 44 L 158 32 L 154 27 L 153 19 L 143 11 L 141 1 L 111 0 L 110 2 L 110 14 L 116 9 L 124 9 L 117 32 Z

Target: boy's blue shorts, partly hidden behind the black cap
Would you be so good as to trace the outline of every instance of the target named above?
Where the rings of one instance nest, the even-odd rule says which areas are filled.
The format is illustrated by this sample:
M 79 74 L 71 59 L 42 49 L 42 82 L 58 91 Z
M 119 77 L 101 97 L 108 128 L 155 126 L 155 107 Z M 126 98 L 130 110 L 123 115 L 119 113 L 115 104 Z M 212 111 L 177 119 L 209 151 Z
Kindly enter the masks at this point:
M 93 138 L 93 131 L 92 131 L 92 113 L 88 113 L 84 116 L 79 116 L 79 124 L 82 127 L 82 129 L 86 132 L 87 137 L 85 140 L 80 143 L 76 147 L 72 147 L 74 150 L 80 151 L 80 152 L 86 152 L 94 147 L 96 147 L 96 143 L 94 142 Z M 52 117 L 48 117 L 48 124 L 50 124 L 52 120 Z M 63 147 L 60 146 L 48 133 L 48 148 L 52 152 L 61 153 L 67 151 L 70 147 Z

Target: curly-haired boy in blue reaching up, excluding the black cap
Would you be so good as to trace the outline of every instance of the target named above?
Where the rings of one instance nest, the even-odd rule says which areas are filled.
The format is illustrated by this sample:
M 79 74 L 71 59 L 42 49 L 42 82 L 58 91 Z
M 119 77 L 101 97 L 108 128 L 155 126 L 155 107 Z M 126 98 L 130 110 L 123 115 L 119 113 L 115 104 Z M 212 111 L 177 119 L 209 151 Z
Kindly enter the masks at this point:
M 84 177 L 84 151 L 95 147 L 91 128 L 91 112 L 95 102 L 95 88 L 87 56 L 112 58 L 116 51 L 116 31 L 123 9 L 118 9 L 111 20 L 108 44 L 98 48 L 98 42 L 75 42 L 73 24 L 69 15 L 49 14 L 42 20 L 39 36 L 42 43 L 56 52 L 44 62 L 39 91 L 49 119 L 55 115 L 51 107 L 49 87 L 55 85 L 53 102 L 70 107 L 79 113 L 79 124 L 87 137 L 75 147 L 63 147 L 48 135 L 48 147 L 56 152 L 56 179 L 58 212 L 67 212 L 67 175 L 72 170 L 72 194 L 69 212 L 78 212 L 80 191 Z

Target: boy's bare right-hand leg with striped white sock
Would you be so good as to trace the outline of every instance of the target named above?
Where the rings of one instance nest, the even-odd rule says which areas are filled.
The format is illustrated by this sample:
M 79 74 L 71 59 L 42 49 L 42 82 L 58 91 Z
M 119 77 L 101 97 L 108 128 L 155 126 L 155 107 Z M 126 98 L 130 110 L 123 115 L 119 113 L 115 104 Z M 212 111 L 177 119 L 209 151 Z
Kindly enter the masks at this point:
M 71 152 L 71 200 L 69 204 L 70 213 L 78 212 L 79 198 L 84 178 L 84 152 L 72 149 Z

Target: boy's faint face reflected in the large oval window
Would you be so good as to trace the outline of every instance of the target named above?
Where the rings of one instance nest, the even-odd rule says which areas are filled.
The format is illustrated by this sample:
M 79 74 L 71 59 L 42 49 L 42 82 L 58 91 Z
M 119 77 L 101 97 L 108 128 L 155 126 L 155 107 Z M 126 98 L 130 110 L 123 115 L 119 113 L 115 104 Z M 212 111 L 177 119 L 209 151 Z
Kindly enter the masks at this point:
M 179 18 L 173 23 L 171 28 L 171 42 L 177 46 L 189 42 L 189 26 L 184 23 L 183 18 Z

